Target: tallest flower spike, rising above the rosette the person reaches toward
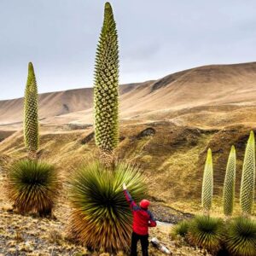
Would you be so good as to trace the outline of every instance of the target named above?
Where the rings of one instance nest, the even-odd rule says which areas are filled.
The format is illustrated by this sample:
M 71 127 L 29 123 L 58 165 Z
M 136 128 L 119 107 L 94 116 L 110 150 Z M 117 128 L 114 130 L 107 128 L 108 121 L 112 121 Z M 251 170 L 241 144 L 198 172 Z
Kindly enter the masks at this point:
M 96 145 L 106 166 L 119 142 L 119 47 L 110 3 L 105 4 L 102 32 L 96 49 L 94 83 Z

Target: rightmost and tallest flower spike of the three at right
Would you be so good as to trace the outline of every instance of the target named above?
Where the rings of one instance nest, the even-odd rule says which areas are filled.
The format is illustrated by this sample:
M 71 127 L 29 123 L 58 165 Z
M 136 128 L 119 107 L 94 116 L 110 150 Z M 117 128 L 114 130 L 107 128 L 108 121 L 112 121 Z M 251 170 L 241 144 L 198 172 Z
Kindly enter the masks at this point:
M 247 141 L 247 148 L 244 156 L 242 174 L 241 174 L 241 191 L 240 204 L 241 211 L 244 214 L 253 213 L 255 187 L 255 139 L 254 133 L 251 131 Z

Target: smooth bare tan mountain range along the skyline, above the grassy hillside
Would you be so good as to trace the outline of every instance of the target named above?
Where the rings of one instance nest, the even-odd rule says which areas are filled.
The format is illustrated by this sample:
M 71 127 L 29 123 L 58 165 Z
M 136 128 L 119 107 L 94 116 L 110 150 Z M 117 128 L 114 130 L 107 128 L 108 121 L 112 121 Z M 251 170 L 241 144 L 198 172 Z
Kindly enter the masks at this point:
M 256 62 L 195 67 L 157 81 L 125 84 L 120 86 L 120 95 L 123 119 L 176 118 L 176 122 L 193 123 L 184 115 L 192 112 L 205 119 L 206 111 L 222 119 L 226 116 L 221 113 L 233 112 L 234 119 L 240 119 L 237 109 L 242 112 L 241 108 L 256 105 Z M 43 94 L 40 118 L 48 124 L 91 123 L 92 102 L 90 88 Z M 181 113 L 184 120 L 177 118 Z M 256 120 L 254 115 L 252 119 Z M 22 99 L 0 102 L 0 124 L 21 120 Z

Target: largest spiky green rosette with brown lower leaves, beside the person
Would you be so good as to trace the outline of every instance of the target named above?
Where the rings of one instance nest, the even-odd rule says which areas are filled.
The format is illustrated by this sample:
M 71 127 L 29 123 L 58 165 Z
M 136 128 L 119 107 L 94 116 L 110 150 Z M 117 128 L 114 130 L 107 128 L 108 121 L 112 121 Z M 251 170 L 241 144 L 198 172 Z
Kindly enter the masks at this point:
M 123 183 L 135 201 L 143 198 L 145 184 L 134 166 L 119 163 L 108 172 L 105 166 L 92 163 L 74 173 L 69 186 L 73 212 L 68 230 L 76 241 L 108 252 L 129 249 L 132 215 Z

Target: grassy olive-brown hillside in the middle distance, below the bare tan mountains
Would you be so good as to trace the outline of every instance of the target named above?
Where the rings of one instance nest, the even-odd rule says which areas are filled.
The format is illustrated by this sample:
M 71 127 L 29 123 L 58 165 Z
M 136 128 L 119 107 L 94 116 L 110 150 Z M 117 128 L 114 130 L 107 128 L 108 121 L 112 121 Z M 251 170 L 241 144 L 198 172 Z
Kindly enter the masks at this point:
M 222 195 L 225 166 L 231 145 L 237 149 L 236 197 L 239 195 L 241 166 L 252 126 L 232 125 L 224 129 L 200 129 L 175 125 L 169 121 L 121 125 L 118 155 L 141 166 L 148 177 L 149 194 L 154 201 L 183 209 L 200 210 L 201 181 L 207 148 L 212 148 L 214 195 Z M 68 177 L 80 162 L 97 154 L 91 127 L 67 131 L 67 127 L 41 128 L 39 155 L 59 166 Z M 55 131 L 54 131 L 55 130 Z M 256 129 L 255 129 L 256 131 Z M 0 154 L 12 158 L 26 156 L 21 131 L 0 144 Z M 189 204 L 190 203 L 190 204 Z M 219 209 L 218 209 L 219 211 Z

